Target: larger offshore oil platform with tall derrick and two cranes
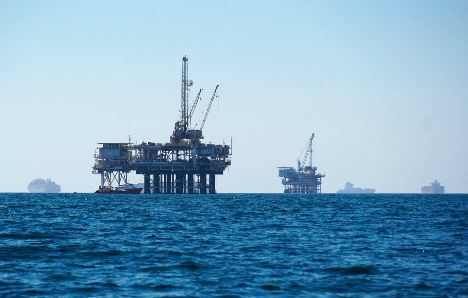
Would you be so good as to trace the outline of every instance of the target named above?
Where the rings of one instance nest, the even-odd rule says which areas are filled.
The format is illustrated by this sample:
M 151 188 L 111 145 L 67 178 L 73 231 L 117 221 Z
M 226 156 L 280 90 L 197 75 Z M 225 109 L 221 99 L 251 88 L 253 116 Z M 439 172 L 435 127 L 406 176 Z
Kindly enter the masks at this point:
M 215 176 L 222 175 L 231 165 L 232 150 L 230 144 L 205 144 L 201 140 L 218 85 L 201 126 L 192 128 L 192 116 L 203 89 L 190 103 L 189 87 L 193 81 L 188 80 L 187 62 L 187 56 L 183 57 L 180 119 L 176 121 L 170 142 L 98 143 L 93 173 L 101 175 L 99 190 L 111 191 L 102 193 L 112 193 L 112 184 L 127 185 L 131 171 L 143 175 L 145 193 L 216 193 Z

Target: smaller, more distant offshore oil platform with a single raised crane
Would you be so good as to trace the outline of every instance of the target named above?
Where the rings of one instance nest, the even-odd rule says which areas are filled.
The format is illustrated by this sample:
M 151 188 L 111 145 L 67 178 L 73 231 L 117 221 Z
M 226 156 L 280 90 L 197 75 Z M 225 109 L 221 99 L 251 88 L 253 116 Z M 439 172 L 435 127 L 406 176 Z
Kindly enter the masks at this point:
M 325 174 L 316 173 L 317 167 L 312 166 L 312 140 L 314 134 L 310 136 L 306 144 L 307 150 L 302 163 L 297 159 L 297 170 L 292 167 L 278 168 L 278 176 L 282 177 L 281 183 L 285 187 L 285 193 L 322 193 L 322 178 Z M 304 147 L 304 149 L 306 149 Z M 304 149 L 299 156 L 302 155 Z M 309 165 L 305 166 L 309 156 Z

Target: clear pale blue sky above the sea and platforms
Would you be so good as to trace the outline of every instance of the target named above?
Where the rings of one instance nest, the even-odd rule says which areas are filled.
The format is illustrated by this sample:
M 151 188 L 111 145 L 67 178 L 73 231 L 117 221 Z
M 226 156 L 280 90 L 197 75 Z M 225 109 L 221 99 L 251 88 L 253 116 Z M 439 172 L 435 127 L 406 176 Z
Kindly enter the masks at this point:
M 0 192 L 94 192 L 96 143 L 168 142 L 185 55 L 233 140 L 218 192 L 283 192 L 312 133 L 322 192 L 468 192 L 468 2 L 429 0 L 0 0 Z

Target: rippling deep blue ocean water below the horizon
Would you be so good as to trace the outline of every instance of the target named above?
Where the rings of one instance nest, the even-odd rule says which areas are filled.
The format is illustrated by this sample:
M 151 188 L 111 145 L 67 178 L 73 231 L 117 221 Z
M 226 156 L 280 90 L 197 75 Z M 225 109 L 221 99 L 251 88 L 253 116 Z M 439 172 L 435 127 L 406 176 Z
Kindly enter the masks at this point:
M 468 195 L 0 194 L 0 297 L 461 297 Z

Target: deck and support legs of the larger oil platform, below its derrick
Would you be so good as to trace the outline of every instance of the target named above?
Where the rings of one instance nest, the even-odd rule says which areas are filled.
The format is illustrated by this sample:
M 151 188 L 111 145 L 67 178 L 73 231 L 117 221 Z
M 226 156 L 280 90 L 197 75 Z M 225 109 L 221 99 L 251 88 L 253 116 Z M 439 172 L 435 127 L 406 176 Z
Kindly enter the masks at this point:
M 215 175 L 231 165 L 228 145 L 100 143 L 97 149 L 94 172 L 101 174 L 100 188 L 127 183 L 134 170 L 144 176 L 145 193 L 216 193 Z

